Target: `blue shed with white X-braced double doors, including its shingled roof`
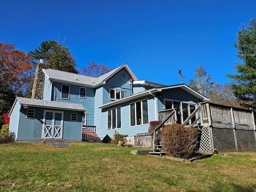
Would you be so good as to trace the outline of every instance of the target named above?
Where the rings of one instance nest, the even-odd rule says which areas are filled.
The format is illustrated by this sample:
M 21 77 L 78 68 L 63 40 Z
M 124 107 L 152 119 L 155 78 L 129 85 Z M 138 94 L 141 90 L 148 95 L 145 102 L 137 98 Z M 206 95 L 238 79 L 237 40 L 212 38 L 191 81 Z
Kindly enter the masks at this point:
M 17 97 L 9 113 L 9 130 L 18 141 L 81 141 L 85 110 L 81 104 Z

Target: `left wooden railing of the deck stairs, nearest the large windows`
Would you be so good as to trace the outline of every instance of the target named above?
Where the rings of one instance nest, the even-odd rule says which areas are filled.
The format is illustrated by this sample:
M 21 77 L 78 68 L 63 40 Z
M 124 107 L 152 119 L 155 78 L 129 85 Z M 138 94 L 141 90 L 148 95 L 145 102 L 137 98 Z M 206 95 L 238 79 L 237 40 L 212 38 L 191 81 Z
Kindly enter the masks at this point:
M 172 123 L 177 122 L 177 116 L 176 116 L 176 110 L 173 109 L 173 111 L 149 134 L 153 135 L 153 150 L 156 148 L 156 145 L 158 143 L 158 140 L 161 138 L 161 132 L 160 128 L 164 125 L 166 121 L 168 121 L 172 116 L 174 115 L 174 121 Z

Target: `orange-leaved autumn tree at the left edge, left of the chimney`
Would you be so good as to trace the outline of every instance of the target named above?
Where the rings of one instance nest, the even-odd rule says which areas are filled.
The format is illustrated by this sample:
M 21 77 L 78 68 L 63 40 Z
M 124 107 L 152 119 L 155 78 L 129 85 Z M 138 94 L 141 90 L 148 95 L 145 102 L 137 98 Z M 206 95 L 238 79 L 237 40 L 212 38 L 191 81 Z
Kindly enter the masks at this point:
M 24 51 L 15 50 L 15 44 L 0 43 L 0 89 L 27 92 L 34 74 L 31 60 Z

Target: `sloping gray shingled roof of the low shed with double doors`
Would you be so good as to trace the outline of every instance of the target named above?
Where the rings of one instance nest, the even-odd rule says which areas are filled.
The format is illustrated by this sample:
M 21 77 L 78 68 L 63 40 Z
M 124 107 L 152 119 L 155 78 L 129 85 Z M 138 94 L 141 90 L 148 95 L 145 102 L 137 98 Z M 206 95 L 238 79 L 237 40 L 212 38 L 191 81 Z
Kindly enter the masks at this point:
M 36 106 L 41 108 L 66 109 L 66 110 L 76 110 L 76 111 L 86 110 L 81 104 L 75 104 L 75 103 L 45 101 L 40 99 L 30 99 L 30 98 L 23 98 L 23 97 L 16 97 L 16 99 L 22 106 Z

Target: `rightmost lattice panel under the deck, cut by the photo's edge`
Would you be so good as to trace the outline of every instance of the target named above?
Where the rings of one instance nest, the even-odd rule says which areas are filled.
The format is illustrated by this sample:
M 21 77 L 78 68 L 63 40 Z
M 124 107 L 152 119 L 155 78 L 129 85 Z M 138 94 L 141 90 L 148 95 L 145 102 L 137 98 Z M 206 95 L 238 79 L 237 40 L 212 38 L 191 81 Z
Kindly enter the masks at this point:
M 256 150 L 255 131 L 236 130 L 236 142 L 238 150 Z

